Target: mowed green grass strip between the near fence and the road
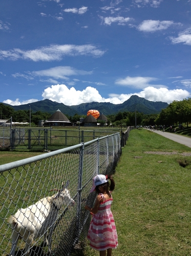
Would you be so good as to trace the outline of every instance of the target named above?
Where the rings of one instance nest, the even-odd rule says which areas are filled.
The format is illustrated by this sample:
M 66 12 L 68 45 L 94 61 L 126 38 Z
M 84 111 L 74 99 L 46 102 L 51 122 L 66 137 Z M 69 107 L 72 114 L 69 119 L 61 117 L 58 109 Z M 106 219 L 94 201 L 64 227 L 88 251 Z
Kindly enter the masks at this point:
M 191 156 L 184 152 L 191 149 L 148 130 L 131 131 L 114 175 L 119 246 L 112 255 L 191 254 Z M 85 249 L 83 255 L 98 255 L 88 241 Z

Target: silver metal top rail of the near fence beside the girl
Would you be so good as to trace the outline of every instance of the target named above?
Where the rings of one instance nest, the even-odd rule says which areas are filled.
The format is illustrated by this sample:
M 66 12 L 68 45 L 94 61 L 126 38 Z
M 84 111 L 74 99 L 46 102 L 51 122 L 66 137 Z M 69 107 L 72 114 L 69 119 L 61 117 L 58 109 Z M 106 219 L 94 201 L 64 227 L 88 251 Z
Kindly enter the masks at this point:
M 119 133 L 116 133 L 116 134 L 119 134 Z M 107 136 L 104 136 L 104 137 L 101 137 L 101 138 L 96 138 L 94 140 L 91 140 L 91 141 L 88 141 L 88 142 L 85 142 L 85 143 L 79 143 L 79 144 L 73 145 L 73 146 L 65 148 L 65 149 L 55 150 L 53 152 L 48 152 L 48 153 L 41 154 L 41 155 L 38 155 L 38 156 L 32 156 L 32 157 L 29 157 L 29 158 L 26 158 L 26 159 L 22 159 L 22 160 L 10 162 L 10 163 L 2 164 L 2 165 L 0 165 L 0 173 L 11 170 L 13 168 L 20 167 L 20 166 L 25 166 L 26 164 L 29 164 L 31 162 L 36 162 L 36 161 L 43 160 L 43 159 L 48 158 L 48 157 L 52 157 L 52 156 L 55 156 L 55 155 L 58 155 L 58 154 L 66 153 L 70 150 L 80 148 L 80 147 L 82 147 L 82 145 L 89 145 L 89 144 L 91 144 L 91 143 L 93 143 L 97 140 L 101 140 L 101 139 L 104 139 L 104 138 L 107 138 L 107 137 L 111 137 L 111 136 L 114 136 L 116 134 L 111 134 L 111 135 L 107 135 Z

